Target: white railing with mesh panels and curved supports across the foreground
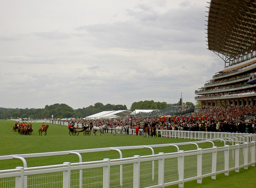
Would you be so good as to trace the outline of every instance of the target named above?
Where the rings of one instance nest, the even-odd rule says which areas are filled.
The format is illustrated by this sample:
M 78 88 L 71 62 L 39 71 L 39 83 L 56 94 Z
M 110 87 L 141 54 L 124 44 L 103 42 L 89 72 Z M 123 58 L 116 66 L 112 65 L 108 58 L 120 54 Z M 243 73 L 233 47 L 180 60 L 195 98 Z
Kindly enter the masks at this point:
M 51 153 L 22 154 L 17 156 L 0 156 L 0 160 L 20 158 L 24 166 L 10 170 L 0 170 L 1 188 L 158 188 L 178 184 L 184 187 L 184 182 L 197 180 L 202 183 L 202 178 L 211 176 L 216 179 L 216 174 L 228 175 L 230 171 L 239 172 L 240 168 L 247 169 L 255 165 L 255 142 L 243 137 L 243 142 L 238 143 L 238 138 L 219 138 L 224 146 L 214 146 L 213 140 L 202 140 L 190 143 L 159 144 L 148 146 L 124 146 L 118 148 L 97 148 L 100 150 L 117 150 L 119 159 L 104 159 L 92 162 L 78 162 L 51 166 L 26 167 L 27 157 L 51 156 Z M 212 142 L 212 148 L 199 148 L 198 143 Z M 226 145 L 232 142 L 232 145 Z M 178 145 L 194 144 L 196 150 L 182 151 Z M 154 154 L 154 147 L 176 146 L 177 152 Z M 122 158 L 122 149 L 151 148 L 152 155 L 133 156 Z M 52 156 L 61 154 L 78 154 L 92 152 L 90 150 L 76 150 L 52 152 Z M 82 160 L 80 158 L 80 160 Z

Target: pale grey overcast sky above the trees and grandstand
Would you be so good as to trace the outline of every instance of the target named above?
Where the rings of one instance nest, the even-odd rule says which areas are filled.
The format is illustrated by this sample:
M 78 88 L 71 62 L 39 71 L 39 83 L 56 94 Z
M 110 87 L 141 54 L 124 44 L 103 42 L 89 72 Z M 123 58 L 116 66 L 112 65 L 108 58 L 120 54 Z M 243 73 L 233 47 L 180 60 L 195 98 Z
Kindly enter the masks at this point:
M 0 107 L 195 104 L 224 68 L 206 0 L 1 0 Z

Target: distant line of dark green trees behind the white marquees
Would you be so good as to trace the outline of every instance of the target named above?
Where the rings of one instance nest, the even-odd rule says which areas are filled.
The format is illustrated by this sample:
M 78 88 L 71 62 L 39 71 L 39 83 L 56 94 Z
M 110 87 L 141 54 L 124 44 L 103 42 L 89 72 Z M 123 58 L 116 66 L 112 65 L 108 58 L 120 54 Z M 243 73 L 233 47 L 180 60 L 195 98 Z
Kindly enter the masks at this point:
M 190 102 L 186 102 L 190 103 Z M 191 105 L 193 103 L 187 104 Z M 154 102 L 153 100 L 145 100 L 140 102 L 134 102 L 131 106 L 131 111 L 135 109 L 158 109 L 162 110 L 168 108 L 171 105 L 166 102 Z M 126 105 L 121 104 L 102 104 L 97 102 L 94 106 L 88 106 L 86 108 L 78 108 L 74 110 L 67 104 L 52 104 L 50 106 L 46 105 L 44 108 L 0 108 L 0 119 L 16 119 L 16 118 L 30 118 L 30 119 L 43 119 L 43 118 L 84 118 L 92 114 L 96 114 L 102 111 L 110 110 L 127 110 Z

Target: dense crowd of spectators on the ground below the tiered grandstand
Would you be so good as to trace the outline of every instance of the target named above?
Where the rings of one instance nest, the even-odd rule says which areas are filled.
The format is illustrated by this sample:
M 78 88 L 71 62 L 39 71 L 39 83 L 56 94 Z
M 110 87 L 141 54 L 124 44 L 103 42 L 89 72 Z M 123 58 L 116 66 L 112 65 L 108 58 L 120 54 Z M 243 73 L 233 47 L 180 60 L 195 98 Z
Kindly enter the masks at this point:
M 221 106 L 217 108 L 205 108 L 200 113 L 193 113 L 188 116 L 162 116 L 160 117 L 131 117 L 109 118 L 95 120 L 72 120 L 74 124 L 83 124 L 89 126 L 106 125 L 108 128 L 124 126 L 129 124 L 130 128 L 144 128 L 144 123 L 149 125 L 156 123 L 159 130 L 188 130 L 188 131 L 206 131 L 206 132 L 248 132 L 253 133 L 256 106 Z M 254 116 L 250 120 L 242 120 L 245 116 Z M 129 121 L 128 119 L 132 120 Z M 70 120 L 64 120 L 70 122 Z

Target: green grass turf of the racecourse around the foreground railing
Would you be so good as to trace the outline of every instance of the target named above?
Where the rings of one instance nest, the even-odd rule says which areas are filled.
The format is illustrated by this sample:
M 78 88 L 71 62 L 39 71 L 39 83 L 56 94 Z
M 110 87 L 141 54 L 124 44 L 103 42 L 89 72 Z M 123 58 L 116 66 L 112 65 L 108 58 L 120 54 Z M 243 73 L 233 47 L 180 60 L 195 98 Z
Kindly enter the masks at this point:
M 176 142 L 188 142 L 193 140 L 174 139 L 174 138 L 161 138 L 161 137 L 148 137 L 135 135 L 116 135 L 106 133 L 105 136 L 96 136 L 92 134 L 90 136 L 84 136 L 79 134 L 78 136 L 70 136 L 68 134 L 68 128 L 57 124 L 49 124 L 46 136 L 39 136 L 38 130 L 42 126 L 42 123 L 32 123 L 34 132 L 32 135 L 20 135 L 18 132 L 12 130 L 14 121 L 0 120 L 0 155 L 10 154 L 26 154 L 26 153 L 38 153 L 38 152 L 54 152 L 64 150 L 81 150 L 90 148 L 105 148 L 115 146 L 134 146 L 134 145 L 149 145 L 149 144 L 166 144 Z M 46 123 L 48 124 L 48 123 Z M 217 142 L 216 146 L 223 146 L 223 143 Z M 212 147 L 212 144 L 205 143 L 199 144 L 200 148 Z M 181 146 L 180 150 L 196 149 L 194 145 Z M 175 147 L 160 147 L 154 148 L 155 154 L 158 152 L 175 152 Z M 150 149 L 138 149 L 138 150 L 123 150 L 123 158 L 134 155 L 149 155 Z M 102 160 L 103 158 L 119 158 L 117 151 L 110 152 L 95 152 L 82 154 L 83 161 Z M 27 158 L 28 167 L 42 166 L 50 164 L 61 164 L 63 162 L 78 162 L 78 156 L 75 154 L 64 156 L 53 156 L 46 158 Z M 22 162 L 17 159 L 0 161 L 0 170 L 15 168 L 16 166 L 22 166 Z M 196 181 L 185 183 L 185 187 L 255 187 L 254 174 L 256 168 L 249 167 L 248 170 L 240 169 L 240 173 L 230 172 L 230 176 L 224 176 L 224 174 L 217 175 L 217 180 L 212 180 L 210 177 L 203 179 L 203 184 L 197 184 Z M 178 187 L 171 186 L 171 187 Z

